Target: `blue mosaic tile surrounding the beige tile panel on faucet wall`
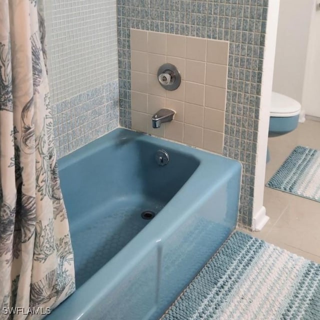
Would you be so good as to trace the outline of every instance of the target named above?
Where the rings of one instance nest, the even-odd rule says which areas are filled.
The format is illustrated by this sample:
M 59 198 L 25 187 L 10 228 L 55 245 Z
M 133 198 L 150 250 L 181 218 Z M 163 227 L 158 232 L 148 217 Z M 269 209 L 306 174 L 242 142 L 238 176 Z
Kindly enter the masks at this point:
M 120 124 L 131 126 L 130 28 L 228 40 L 223 154 L 243 164 L 238 221 L 252 223 L 268 0 L 117 0 Z

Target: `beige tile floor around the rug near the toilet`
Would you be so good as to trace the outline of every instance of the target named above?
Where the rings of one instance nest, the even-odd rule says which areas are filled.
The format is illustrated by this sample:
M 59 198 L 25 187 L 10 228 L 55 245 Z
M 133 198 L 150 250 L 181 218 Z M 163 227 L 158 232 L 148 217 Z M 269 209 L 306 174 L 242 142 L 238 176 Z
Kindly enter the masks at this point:
M 296 145 L 320 150 L 320 121 L 306 120 L 288 134 L 269 138 L 265 182 Z M 270 219 L 261 231 L 249 233 L 320 263 L 320 202 L 265 187 L 264 206 Z

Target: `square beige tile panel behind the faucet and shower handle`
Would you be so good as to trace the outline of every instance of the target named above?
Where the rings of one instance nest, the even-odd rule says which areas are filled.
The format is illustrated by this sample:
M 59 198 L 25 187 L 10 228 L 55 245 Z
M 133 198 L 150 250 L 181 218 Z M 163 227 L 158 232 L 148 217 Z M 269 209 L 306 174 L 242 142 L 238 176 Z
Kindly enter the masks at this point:
M 131 127 L 222 153 L 227 85 L 228 41 L 131 29 Z M 171 63 L 180 86 L 164 89 L 160 65 Z M 173 109 L 171 122 L 153 129 L 151 116 Z

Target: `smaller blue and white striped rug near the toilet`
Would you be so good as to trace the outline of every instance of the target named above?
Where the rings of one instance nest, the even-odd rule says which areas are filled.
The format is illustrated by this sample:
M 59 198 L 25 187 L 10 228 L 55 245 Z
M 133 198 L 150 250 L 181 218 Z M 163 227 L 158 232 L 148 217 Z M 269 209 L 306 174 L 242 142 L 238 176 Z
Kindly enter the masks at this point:
M 266 186 L 320 202 L 320 151 L 295 147 Z

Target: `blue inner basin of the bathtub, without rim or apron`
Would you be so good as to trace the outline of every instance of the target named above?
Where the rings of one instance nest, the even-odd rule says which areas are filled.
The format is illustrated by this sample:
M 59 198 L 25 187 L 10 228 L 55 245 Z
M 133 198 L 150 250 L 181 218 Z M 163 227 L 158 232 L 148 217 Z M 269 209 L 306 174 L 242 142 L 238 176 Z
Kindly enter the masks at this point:
M 116 141 L 103 148 L 84 146 L 60 161 L 77 287 L 149 223 L 141 212 L 156 215 L 199 165 L 192 155 L 167 148 L 169 162 L 159 166 L 156 144 Z

